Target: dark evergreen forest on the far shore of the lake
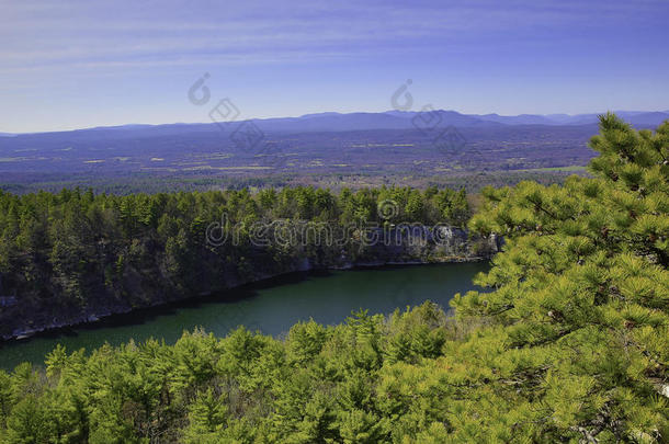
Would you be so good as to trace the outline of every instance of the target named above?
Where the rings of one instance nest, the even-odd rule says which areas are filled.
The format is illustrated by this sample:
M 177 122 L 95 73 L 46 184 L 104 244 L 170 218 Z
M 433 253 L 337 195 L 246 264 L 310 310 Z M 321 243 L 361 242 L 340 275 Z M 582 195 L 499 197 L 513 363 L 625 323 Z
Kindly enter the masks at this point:
M 78 189 L 26 195 L 0 191 L 0 334 L 209 293 L 292 271 L 305 258 L 327 266 L 342 254 L 354 261 L 365 253 L 359 239 L 345 246 L 260 248 L 250 239 L 254 223 L 462 226 L 468 217 L 464 191 L 435 187 L 127 196 Z M 207 242 L 207 227 L 222 221 L 225 230 L 235 230 L 236 242 L 233 236 L 225 244 Z

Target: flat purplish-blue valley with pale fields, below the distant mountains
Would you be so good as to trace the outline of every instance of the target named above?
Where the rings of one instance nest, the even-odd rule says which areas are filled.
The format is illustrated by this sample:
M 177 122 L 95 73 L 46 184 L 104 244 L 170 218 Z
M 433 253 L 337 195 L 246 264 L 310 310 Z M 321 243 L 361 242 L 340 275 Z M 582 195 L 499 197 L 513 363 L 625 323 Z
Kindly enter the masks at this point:
M 207 190 L 388 184 L 506 185 L 585 173 L 593 125 L 457 128 L 457 144 L 418 129 L 268 133 L 236 145 L 215 125 L 88 129 L 0 139 L 0 185 L 14 192 Z

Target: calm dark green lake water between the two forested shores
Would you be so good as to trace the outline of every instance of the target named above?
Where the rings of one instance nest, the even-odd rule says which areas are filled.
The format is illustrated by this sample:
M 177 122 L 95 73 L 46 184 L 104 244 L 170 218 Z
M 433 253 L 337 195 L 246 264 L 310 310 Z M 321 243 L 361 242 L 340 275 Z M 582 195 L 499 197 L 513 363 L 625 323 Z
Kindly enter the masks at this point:
M 240 325 L 277 335 L 309 318 L 326 325 L 339 323 L 359 308 L 389 314 L 397 307 L 428 299 L 447 308 L 453 295 L 473 289 L 472 277 L 487 269 L 486 263 L 451 263 L 292 274 L 216 297 L 120 315 L 90 326 L 5 343 L 0 348 L 0 367 L 10 369 L 24 361 L 42 364 L 44 355 L 57 343 L 68 351 L 91 350 L 105 341 L 117 345 L 131 338 L 163 338 L 173 343 L 183 330 L 199 326 L 216 335 L 225 335 Z

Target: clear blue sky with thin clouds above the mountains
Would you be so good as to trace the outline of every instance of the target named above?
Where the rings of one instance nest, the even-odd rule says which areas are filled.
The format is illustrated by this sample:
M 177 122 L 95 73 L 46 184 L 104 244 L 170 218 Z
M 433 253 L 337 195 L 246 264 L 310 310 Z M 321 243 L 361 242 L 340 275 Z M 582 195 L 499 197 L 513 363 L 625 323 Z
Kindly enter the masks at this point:
M 0 132 L 387 111 L 669 110 L 669 2 L 0 0 Z M 205 72 L 212 101 L 189 88 Z M 212 105 L 212 106 L 209 106 Z

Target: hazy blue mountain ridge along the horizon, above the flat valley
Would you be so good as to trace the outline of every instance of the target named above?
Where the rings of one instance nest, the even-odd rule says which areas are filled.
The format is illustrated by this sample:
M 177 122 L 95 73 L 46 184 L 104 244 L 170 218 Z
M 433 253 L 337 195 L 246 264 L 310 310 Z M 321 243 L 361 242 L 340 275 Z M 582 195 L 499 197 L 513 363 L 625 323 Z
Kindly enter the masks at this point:
M 669 119 L 668 111 L 616 111 L 624 121 L 638 128 L 654 128 Z M 366 129 L 411 129 L 423 128 L 429 125 L 455 127 L 495 127 L 500 125 L 592 125 L 598 123 L 598 114 L 520 114 L 504 116 L 499 114 L 461 114 L 455 111 L 387 111 L 384 113 L 317 113 L 305 114 L 299 117 L 253 118 L 252 121 L 263 132 L 270 133 L 310 133 L 310 132 L 348 132 Z M 77 132 L 133 132 L 136 135 L 145 134 L 181 134 L 183 132 L 216 130 L 215 123 L 205 124 L 165 124 L 143 125 L 131 124 L 122 126 L 106 126 L 78 129 Z M 145 134 L 148 135 L 148 134 Z M 0 133 L 0 137 L 12 137 L 15 134 Z

